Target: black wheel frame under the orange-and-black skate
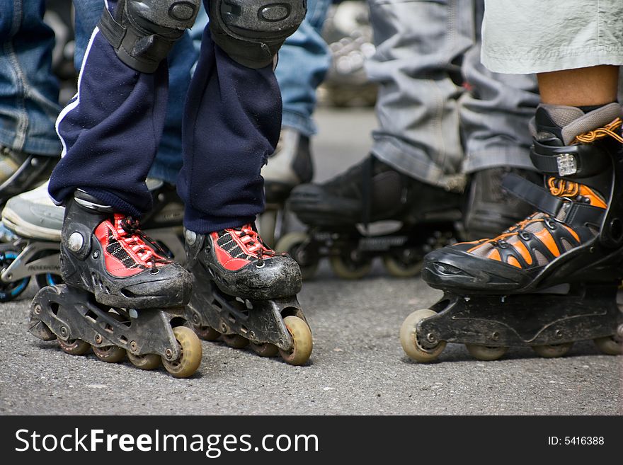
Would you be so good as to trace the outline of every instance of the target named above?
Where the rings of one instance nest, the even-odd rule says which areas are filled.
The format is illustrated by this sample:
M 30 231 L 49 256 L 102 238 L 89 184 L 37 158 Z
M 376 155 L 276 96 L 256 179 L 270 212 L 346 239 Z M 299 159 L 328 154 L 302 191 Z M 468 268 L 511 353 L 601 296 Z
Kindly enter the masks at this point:
M 615 285 L 576 285 L 567 294 L 476 295 L 445 292 L 436 316 L 418 325 L 418 342 L 499 346 L 571 343 L 617 333 L 623 312 Z

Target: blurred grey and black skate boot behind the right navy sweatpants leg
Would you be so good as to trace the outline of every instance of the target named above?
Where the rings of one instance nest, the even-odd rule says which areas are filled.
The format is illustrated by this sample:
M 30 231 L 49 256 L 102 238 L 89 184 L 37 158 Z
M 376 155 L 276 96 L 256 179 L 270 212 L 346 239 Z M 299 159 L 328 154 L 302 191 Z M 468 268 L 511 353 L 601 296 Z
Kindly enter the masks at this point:
M 258 218 L 258 229 L 268 246 L 285 230 L 285 200 L 295 186 L 314 176 L 309 137 L 291 127 L 282 127 L 275 153 L 262 168 L 266 207 Z

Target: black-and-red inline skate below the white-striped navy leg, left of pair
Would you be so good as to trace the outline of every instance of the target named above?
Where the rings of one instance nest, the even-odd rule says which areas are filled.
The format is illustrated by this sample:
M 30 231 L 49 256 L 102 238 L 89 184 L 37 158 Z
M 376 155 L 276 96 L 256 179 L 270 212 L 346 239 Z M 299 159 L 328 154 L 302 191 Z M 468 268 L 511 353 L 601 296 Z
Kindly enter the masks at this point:
M 67 201 L 61 238 L 66 284 L 35 295 L 30 333 L 57 338 L 72 355 L 93 348 L 105 362 L 127 354 L 141 369 L 162 362 L 175 377 L 192 375 L 201 361 L 201 343 L 184 326 L 189 273 L 166 258 L 136 219 L 80 190 Z

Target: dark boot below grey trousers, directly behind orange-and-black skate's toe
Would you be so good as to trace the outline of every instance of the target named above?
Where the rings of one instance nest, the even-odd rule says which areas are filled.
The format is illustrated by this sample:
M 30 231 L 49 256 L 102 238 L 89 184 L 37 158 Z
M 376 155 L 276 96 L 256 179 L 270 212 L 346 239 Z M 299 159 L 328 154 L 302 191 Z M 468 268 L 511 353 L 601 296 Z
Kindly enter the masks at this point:
M 508 173 L 527 178 L 538 184 L 542 175 L 535 171 L 500 166 L 476 171 L 471 176 L 469 200 L 465 209 L 464 236 L 471 241 L 483 237 L 497 236 L 532 213 L 532 207 L 502 187 L 502 180 Z

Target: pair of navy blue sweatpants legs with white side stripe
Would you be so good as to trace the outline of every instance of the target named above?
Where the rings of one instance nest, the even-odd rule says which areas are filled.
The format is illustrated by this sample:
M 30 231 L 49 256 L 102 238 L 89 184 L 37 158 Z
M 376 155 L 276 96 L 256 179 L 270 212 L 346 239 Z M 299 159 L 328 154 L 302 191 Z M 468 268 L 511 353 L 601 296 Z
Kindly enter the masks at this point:
M 108 4 L 112 11 L 116 1 Z M 161 138 L 167 91 L 166 60 L 154 73 L 135 71 L 96 29 L 78 93 L 57 121 L 64 150 L 50 178 L 55 201 L 80 188 L 119 212 L 148 212 L 152 197 L 144 180 Z M 184 105 L 177 183 L 184 225 L 205 234 L 252 222 L 264 207 L 260 171 L 281 127 L 272 67 L 237 64 L 206 28 Z

